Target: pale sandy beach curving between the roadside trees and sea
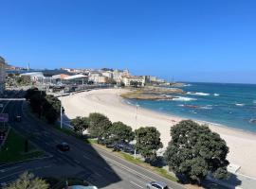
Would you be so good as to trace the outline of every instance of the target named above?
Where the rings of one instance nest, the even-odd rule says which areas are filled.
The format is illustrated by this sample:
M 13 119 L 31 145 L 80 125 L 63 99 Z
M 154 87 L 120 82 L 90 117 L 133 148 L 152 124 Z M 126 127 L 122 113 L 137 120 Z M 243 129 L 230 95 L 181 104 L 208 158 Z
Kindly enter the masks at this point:
M 136 107 L 127 104 L 119 96 L 125 92 L 125 89 L 103 89 L 64 96 L 65 114 L 72 119 L 88 116 L 90 112 L 101 112 L 112 122 L 121 121 L 133 129 L 153 126 L 161 133 L 163 145 L 167 146 L 171 140 L 171 127 L 183 118 L 138 108 L 136 121 Z M 229 162 L 241 166 L 238 172 L 256 178 L 256 134 L 214 124 L 209 127 L 226 140 Z

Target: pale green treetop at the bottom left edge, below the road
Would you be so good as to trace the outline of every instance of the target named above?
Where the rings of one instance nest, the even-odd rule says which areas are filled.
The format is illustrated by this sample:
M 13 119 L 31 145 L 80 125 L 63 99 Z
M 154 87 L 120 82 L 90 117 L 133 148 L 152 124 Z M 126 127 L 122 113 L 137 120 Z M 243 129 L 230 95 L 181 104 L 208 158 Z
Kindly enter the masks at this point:
M 5 189 L 48 189 L 49 185 L 45 180 L 35 178 L 32 173 L 25 172 L 18 180 L 9 184 Z

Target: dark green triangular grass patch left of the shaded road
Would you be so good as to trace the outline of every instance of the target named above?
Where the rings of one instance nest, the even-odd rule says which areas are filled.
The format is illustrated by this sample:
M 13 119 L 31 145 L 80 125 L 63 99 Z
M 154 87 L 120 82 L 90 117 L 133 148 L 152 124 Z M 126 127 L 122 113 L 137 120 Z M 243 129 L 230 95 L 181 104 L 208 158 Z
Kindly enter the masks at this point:
M 6 144 L 1 149 L 0 162 L 11 163 L 44 156 L 44 152 L 33 146 L 29 141 L 28 152 L 25 152 L 25 142 L 25 137 L 14 129 L 10 129 Z

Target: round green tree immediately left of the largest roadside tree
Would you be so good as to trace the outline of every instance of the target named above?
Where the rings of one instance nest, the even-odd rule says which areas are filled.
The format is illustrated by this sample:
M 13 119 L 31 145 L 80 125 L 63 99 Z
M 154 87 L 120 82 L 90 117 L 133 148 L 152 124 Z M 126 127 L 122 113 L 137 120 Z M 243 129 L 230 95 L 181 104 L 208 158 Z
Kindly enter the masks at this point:
M 160 132 L 154 127 L 139 128 L 135 130 L 136 148 L 147 163 L 155 163 L 157 149 L 163 147 Z

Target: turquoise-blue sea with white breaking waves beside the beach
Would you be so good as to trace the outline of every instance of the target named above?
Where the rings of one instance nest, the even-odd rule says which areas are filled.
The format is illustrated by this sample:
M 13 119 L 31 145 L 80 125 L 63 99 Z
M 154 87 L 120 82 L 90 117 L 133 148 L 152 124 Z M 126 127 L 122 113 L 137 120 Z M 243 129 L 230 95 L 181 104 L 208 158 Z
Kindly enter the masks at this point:
M 256 85 L 188 83 L 174 100 L 128 100 L 131 104 L 184 118 L 256 132 Z

